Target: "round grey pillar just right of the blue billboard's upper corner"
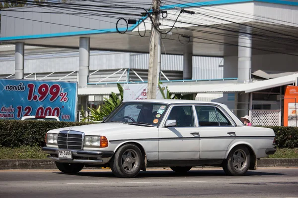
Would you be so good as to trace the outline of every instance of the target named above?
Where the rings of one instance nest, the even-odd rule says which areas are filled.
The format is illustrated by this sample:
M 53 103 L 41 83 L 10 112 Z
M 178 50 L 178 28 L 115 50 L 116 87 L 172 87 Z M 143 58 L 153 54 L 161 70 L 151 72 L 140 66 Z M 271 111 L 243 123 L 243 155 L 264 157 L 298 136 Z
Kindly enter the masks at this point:
M 79 38 L 78 88 L 86 88 L 89 82 L 90 38 Z

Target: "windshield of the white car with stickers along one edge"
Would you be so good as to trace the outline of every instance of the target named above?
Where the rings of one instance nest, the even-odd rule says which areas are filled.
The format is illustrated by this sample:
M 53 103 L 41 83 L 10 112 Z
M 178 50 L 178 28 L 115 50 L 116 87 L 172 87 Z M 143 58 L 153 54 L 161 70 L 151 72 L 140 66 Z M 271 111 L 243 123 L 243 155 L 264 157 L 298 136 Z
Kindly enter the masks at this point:
M 167 108 L 166 104 L 152 102 L 125 102 L 104 122 L 143 123 L 157 126 Z

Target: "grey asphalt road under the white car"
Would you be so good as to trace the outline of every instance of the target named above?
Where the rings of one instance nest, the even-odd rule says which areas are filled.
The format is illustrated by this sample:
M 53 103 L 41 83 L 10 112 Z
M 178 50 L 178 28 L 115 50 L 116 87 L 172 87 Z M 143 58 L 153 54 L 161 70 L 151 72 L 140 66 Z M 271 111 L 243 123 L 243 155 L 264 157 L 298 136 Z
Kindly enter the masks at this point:
M 184 175 L 150 169 L 136 178 L 110 170 L 76 175 L 56 170 L 0 171 L 0 198 L 298 198 L 298 168 L 260 168 L 242 177 L 196 168 Z

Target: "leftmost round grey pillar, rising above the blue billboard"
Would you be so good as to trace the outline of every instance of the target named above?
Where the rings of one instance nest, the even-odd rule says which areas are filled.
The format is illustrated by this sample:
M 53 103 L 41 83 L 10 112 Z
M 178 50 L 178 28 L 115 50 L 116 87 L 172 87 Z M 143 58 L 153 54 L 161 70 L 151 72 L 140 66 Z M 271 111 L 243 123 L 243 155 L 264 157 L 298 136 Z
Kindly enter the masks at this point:
M 15 44 L 15 67 L 14 78 L 24 79 L 24 43 Z

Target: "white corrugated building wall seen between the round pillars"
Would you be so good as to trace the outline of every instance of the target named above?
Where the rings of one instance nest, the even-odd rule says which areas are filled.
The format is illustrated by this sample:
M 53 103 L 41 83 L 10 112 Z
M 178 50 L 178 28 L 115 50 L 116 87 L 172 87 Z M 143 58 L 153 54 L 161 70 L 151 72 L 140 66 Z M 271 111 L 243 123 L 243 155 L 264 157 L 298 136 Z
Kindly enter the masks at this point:
M 148 70 L 149 54 L 122 53 L 122 52 L 90 52 L 90 73 L 94 70 L 115 70 L 133 68 Z M 222 57 L 193 56 L 193 79 L 221 79 L 223 78 Z M 0 57 L 0 75 L 14 73 L 14 57 Z M 182 71 L 182 55 L 165 55 L 161 57 L 162 71 Z M 25 56 L 24 73 L 71 73 L 78 71 L 78 52 L 39 54 Z M 101 75 L 98 71 L 96 75 Z M 122 72 L 121 72 L 122 73 Z M 105 74 L 103 74 L 105 75 Z M 30 76 L 32 78 L 33 76 Z M 40 76 L 37 77 L 37 79 Z M 96 78 L 98 79 L 98 78 Z

